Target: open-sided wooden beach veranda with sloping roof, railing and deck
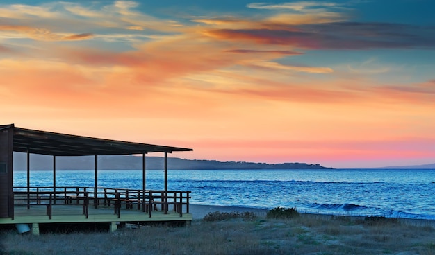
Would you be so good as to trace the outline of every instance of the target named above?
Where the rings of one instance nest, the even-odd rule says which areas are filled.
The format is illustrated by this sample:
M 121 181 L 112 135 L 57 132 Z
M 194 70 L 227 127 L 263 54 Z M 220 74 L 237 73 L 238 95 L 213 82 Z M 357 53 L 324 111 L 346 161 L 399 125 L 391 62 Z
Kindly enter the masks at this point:
M 34 234 L 42 223 L 190 221 L 190 191 L 168 191 L 167 154 L 189 148 L 157 146 L 109 139 L 81 137 L 0 125 L 0 224 L 32 225 Z M 13 187 L 13 152 L 27 154 L 27 185 Z M 164 188 L 146 188 L 146 157 L 163 152 Z M 31 186 L 31 154 L 53 157 L 53 186 Z M 95 185 L 56 186 L 56 157 L 95 156 Z M 99 155 L 142 155 L 142 189 L 98 185 Z M 139 180 L 138 180 L 139 181 Z M 78 184 L 79 185 L 79 184 Z

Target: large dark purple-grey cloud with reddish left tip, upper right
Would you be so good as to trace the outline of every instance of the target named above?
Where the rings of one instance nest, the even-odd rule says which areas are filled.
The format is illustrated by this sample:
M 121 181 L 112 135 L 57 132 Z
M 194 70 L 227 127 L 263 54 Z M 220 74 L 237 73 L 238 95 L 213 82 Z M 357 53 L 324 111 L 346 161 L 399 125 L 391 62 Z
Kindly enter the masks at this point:
M 263 22 L 257 27 L 211 29 L 208 33 L 231 41 L 288 45 L 300 49 L 435 48 L 433 29 L 400 24 L 329 22 L 282 26 Z

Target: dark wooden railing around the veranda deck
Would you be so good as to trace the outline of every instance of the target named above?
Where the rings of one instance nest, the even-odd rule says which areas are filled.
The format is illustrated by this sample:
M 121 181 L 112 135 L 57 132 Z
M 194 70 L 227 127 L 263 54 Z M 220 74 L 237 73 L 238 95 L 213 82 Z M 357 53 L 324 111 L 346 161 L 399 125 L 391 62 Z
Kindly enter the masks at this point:
M 51 219 L 52 206 L 81 205 L 83 215 L 88 218 L 89 206 L 110 207 L 120 218 L 122 208 L 138 209 L 152 216 L 152 211 L 158 211 L 158 207 L 165 214 L 168 213 L 170 206 L 174 212 L 189 213 L 190 191 L 142 191 L 129 188 L 94 188 L 94 187 L 14 187 L 14 205 L 47 206 L 47 215 Z

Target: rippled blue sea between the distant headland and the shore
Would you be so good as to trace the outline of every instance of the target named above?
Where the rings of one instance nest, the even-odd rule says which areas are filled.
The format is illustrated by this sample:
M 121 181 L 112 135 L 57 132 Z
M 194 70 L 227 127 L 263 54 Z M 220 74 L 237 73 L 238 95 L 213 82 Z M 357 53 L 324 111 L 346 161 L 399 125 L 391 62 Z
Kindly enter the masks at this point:
M 15 171 L 14 186 L 26 186 Z M 30 173 L 31 186 L 52 186 L 52 170 Z M 142 170 L 98 170 L 98 186 L 142 188 Z M 56 186 L 94 186 L 94 170 L 58 170 Z M 146 171 L 146 189 L 163 190 L 163 170 Z M 168 170 L 168 190 L 191 191 L 190 204 L 302 213 L 435 220 L 435 170 Z

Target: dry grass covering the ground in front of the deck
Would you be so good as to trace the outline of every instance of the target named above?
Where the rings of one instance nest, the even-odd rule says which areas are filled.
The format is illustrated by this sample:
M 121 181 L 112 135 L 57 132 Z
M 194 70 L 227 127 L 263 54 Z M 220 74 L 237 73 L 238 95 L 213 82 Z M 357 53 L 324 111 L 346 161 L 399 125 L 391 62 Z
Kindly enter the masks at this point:
M 304 214 L 288 220 L 194 220 L 189 227 L 115 233 L 0 233 L 5 254 L 435 254 L 433 225 Z

